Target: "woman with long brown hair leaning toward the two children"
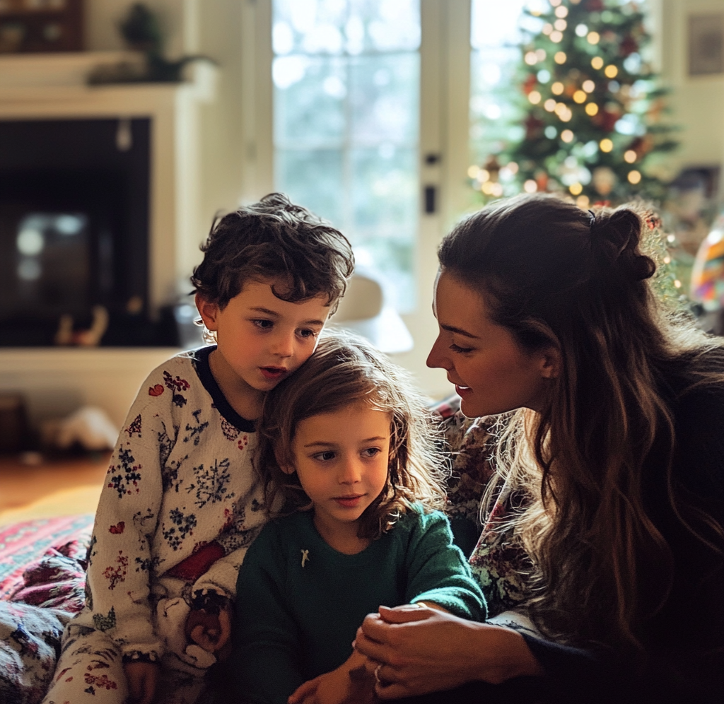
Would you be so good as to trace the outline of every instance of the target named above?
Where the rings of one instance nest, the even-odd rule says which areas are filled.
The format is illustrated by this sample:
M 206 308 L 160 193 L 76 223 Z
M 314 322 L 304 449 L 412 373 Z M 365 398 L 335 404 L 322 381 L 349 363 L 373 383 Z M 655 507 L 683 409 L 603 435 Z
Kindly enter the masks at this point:
M 526 195 L 442 242 L 428 365 L 466 416 L 515 411 L 471 563 L 542 635 L 382 608 L 356 640 L 382 699 L 724 697 L 724 349 L 654 296 L 646 218 Z

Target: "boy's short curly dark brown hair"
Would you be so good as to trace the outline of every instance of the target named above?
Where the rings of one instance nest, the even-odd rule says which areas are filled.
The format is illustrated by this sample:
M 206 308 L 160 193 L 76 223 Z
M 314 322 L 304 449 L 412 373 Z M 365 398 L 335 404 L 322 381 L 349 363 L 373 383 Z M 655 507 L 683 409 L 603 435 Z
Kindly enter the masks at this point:
M 327 296 L 336 309 L 352 275 L 348 239 L 283 193 L 269 193 L 214 221 L 201 245 L 203 261 L 191 282 L 204 300 L 222 310 L 246 281 L 274 281 L 283 301 Z

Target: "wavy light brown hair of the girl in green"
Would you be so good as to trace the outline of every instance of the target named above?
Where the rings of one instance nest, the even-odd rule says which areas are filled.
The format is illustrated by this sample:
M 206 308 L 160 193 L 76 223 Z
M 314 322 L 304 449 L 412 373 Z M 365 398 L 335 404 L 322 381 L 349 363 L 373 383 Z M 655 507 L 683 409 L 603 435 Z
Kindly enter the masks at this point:
M 282 466 L 295 465 L 292 442 L 299 423 L 358 402 L 391 417 L 387 483 L 362 514 L 358 536 L 376 540 L 413 504 L 426 511 L 442 508 L 447 461 L 435 416 L 423 397 L 405 370 L 363 339 L 325 331 L 309 360 L 264 399 L 256 468 L 268 512 L 311 509 L 296 473 L 282 471 Z

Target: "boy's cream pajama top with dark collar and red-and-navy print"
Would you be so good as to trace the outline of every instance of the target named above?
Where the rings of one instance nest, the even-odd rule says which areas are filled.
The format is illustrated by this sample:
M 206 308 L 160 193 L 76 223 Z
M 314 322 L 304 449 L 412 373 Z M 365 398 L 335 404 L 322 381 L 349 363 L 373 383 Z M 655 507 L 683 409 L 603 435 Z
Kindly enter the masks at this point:
M 166 650 L 199 667 L 214 656 L 183 635 L 194 601 L 233 599 L 264 523 L 253 423 L 211 376 L 215 347 L 153 370 L 119 435 L 90 545 L 86 606 L 73 622 L 106 633 L 125 661 Z

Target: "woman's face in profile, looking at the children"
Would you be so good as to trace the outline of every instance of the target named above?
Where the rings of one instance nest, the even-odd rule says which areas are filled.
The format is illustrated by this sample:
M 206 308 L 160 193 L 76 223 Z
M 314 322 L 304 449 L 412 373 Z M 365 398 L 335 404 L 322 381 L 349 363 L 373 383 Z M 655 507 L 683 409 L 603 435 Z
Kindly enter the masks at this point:
M 492 322 L 481 294 L 447 271 L 435 282 L 432 310 L 439 334 L 427 365 L 447 371 L 466 416 L 540 410 L 545 386 L 557 376 L 555 350 L 526 352 L 508 328 Z

